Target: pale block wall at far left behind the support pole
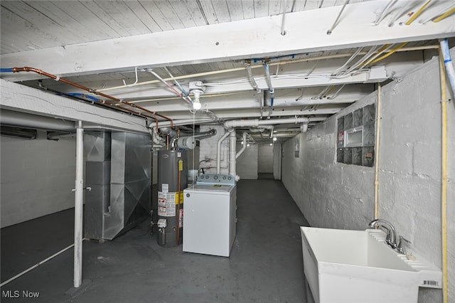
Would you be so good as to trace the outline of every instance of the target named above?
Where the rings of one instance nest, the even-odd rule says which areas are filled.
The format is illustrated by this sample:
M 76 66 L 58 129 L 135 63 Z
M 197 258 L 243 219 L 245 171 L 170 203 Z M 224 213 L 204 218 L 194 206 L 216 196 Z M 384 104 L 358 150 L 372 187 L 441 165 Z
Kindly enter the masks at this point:
M 1 227 L 74 207 L 75 139 L 0 137 Z

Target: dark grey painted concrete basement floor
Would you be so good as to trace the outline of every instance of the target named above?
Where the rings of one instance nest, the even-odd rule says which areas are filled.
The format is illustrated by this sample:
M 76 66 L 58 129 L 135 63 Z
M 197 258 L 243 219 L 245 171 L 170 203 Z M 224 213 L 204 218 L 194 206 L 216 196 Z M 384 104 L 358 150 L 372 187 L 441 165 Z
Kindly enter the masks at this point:
M 299 226 L 308 223 L 281 181 L 241 180 L 237 207 L 230 257 L 161 248 L 146 220 L 107 243 L 84 242 L 79 289 L 70 249 L 1 287 L 1 302 L 305 302 Z M 1 281 L 69 245 L 71 216 L 63 211 L 3 228 Z M 8 290 L 19 297 L 7 298 Z

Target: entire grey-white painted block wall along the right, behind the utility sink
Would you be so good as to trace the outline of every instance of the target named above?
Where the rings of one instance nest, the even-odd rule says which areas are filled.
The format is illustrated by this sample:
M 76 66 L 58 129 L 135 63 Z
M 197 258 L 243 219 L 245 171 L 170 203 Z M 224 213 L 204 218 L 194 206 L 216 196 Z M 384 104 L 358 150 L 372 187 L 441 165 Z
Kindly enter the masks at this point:
M 455 51 L 452 50 L 452 57 Z M 380 218 L 412 241 L 410 251 L 441 268 L 441 94 L 438 59 L 382 87 Z M 362 230 L 374 217 L 374 169 L 336 163 L 336 118 L 375 102 L 376 92 L 283 146 L 282 180 L 312 226 Z M 455 108 L 449 104 L 449 269 L 455 264 Z M 449 298 L 455 272 L 449 270 Z M 421 288 L 419 302 L 441 302 L 441 289 Z M 451 301 L 453 302 L 453 301 Z

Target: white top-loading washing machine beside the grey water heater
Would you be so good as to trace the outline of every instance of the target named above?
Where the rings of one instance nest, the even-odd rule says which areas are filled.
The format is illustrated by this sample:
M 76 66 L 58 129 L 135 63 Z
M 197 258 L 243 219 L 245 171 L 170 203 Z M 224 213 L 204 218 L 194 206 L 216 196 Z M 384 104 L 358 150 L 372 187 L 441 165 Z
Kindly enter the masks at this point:
M 236 187 L 232 176 L 205 174 L 183 190 L 183 251 L 229 257 L 235 238 Z

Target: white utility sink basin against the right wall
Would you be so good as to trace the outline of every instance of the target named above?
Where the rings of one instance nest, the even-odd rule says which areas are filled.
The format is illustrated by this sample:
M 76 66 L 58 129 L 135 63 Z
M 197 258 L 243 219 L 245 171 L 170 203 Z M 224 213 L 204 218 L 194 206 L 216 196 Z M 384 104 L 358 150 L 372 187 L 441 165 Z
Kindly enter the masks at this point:
M 385 244 L 382 230 L 301 227 L 304 272 L 316 303 L 417 302 L 441 288 L 441 270 Z

